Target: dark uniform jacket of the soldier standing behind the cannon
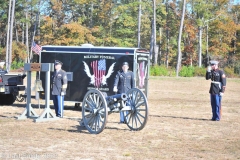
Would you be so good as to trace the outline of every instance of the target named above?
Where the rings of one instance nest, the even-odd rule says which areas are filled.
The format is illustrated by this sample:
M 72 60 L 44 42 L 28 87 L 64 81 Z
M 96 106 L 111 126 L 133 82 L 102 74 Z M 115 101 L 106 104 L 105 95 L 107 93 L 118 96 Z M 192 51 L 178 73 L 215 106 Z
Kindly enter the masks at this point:
M 132 71 L 124 73 L 122 70 L 118 71 L 114 86 L 117 86 L 118 93 L 126 93 L 131 88 L 135 87 L 134 76 Z

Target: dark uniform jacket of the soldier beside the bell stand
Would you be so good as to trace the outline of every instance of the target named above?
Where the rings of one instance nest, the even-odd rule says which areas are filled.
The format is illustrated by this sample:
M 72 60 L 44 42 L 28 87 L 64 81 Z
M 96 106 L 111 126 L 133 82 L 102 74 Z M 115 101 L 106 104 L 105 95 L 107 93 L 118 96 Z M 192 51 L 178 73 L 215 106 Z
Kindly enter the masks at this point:
M 52 95 L 61 95 L 61 92 L 64 92 L 66 95 L 67 89 L 67 74 L 64 70 L 59 70 L 54 72 L 52 84 Z

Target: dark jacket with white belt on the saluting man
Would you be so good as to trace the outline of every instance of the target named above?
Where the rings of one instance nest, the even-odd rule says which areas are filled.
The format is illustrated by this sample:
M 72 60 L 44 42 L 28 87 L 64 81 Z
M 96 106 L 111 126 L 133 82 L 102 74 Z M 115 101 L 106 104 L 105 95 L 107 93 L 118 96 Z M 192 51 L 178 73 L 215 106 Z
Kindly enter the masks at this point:
M 226 86 L 226 76 L 222 70 L 211 70 L 206 73 L 206 80 L 211 79 L 210 94 L 224 93 Z

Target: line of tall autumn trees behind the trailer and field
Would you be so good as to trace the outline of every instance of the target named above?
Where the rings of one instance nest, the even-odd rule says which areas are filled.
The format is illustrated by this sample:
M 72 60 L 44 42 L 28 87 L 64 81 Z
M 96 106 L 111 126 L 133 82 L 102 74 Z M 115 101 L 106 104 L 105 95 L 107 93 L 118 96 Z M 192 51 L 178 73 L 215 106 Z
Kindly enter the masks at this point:
M 11 1 L 0 0 L 1 60 Z M 154 65 L 171 68 L 177 63 L 205 67 L 217 59 L 221 67 L 240 73 L 239 10 L 233 0 L 16 0 L 12 61 L 31 60 L 33 41 L 41 46 L 91 43 L 146 48 Z

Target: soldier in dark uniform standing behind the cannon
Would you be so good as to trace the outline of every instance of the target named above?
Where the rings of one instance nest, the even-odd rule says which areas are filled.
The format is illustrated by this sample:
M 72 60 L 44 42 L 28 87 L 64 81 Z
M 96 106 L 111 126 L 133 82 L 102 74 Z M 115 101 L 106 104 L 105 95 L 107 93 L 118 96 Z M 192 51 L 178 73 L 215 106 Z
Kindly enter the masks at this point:
M 123 62 L 122 70 L 118 71 L 115 77 L 113 92 L 127 93 L 128 90 L 135 87 L 133 72 L 128 71 L 128 69 L 128 62 Z M 125 123 L 122 111 L 120 112 L 120 123 Z

